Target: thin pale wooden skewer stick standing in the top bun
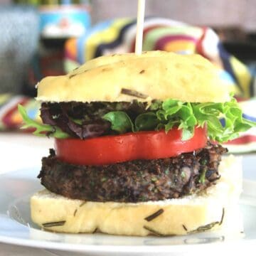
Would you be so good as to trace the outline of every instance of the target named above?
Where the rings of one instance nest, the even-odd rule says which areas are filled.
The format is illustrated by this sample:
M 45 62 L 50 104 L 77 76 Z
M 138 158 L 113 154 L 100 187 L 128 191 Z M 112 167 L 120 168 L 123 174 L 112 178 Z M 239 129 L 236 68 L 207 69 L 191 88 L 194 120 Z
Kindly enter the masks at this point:
M 135 54 L 137 55 L 142 54 L 145 4 L 146 4 L 145 0 L 138 0 L 137 33 L 136 33 L 136 43 L 135 43 Z

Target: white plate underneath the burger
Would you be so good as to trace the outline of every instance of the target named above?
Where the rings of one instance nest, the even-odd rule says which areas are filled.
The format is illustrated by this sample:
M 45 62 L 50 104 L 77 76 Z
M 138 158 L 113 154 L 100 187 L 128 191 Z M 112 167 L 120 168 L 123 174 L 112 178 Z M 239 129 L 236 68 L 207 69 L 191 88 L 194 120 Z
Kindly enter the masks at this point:
M 31 221 L 29 197 L 42 188 L 36 178 L 38 170 L 26 169 L 0 176 L 0 242 L 87 252 L 90 255 L 156 255 L 156 252 L 157 255 L 171 255 L 177 252 L 202 252 L 207 248 L 212 252 L 213 248 L 223 250 L 223 247 L 245 247 L 256 242 L 255 182 L 244 181 L 244 193 L 240 200 L 244 233 L 208 232 L 169 238 L 70 235 L 40 230 Z

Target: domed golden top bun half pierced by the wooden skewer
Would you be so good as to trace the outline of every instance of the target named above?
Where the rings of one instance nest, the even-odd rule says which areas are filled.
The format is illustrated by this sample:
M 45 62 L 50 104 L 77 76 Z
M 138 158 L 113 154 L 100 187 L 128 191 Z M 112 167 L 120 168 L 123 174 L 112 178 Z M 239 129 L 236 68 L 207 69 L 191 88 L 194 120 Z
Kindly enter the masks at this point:
M 228 87 L 208 60 L 164 51 L 95 58 L 68 75 L 41 80 L 37 100 L 150 102 L 169 98 L 183 102 L 230 100 Z

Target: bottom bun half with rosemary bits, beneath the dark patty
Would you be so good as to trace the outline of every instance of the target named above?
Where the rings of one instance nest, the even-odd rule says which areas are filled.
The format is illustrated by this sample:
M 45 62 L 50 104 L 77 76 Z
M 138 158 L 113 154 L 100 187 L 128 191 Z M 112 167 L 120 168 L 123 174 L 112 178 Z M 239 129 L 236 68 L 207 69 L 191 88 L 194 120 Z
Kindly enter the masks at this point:
M 240 159 L 230 156 L 222 161 L 220 174 L 218 183 L 201 195 L 145 203 L 84 202 L 43 190 L 31 198 L 31 216 L 42 228 L 63 233 L 185 235 L 209 228 L 210 223 L 215 223 L 213 229 L 221 228 L 230 220 L 229 213 L 235 215 L 242 186 Z M 145 220 L 159 210 L 161 215 Z M 50 228 L 46 223 L 62 225 Z

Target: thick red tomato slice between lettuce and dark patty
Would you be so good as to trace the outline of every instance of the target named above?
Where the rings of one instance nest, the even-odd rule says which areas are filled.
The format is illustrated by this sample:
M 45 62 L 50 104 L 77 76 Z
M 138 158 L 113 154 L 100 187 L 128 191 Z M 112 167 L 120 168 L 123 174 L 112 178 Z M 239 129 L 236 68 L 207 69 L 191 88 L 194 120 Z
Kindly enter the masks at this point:
M 103 165 L 135 159 L 161 159 L 206 146 L 206 128 L 197 127 L 191 139 L 181 140 L 181 130 L 149 131 L 92 139 L 55 139 L 56 156 L 70 164 Z

